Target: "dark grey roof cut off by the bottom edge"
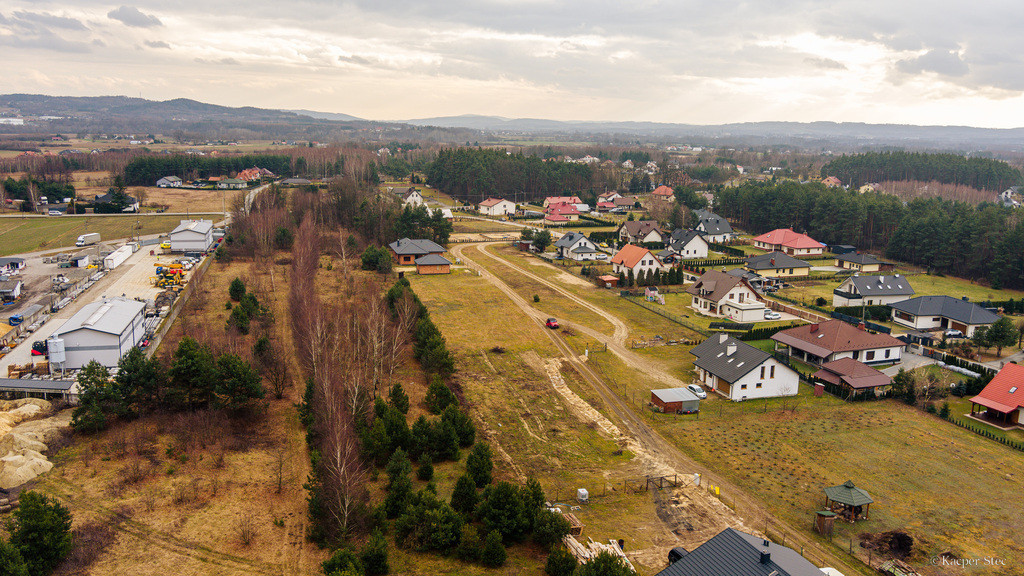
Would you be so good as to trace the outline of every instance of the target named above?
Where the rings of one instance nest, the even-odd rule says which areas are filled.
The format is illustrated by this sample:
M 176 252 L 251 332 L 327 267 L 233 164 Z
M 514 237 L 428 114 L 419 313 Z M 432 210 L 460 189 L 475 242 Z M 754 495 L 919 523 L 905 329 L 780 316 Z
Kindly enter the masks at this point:
M 823 576 L 824 572 L 797 550 L 733 528 L 687 552 L 673 548 L 677 559 L 656 576 Z

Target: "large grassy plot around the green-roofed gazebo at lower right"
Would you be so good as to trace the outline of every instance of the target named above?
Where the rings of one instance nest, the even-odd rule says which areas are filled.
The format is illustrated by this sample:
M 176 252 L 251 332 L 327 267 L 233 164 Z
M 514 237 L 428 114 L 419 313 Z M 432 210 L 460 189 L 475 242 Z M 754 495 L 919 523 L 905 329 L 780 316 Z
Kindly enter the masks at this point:
M 894 401 L 848 404 L 806 386 L 796 400 L 716 404 L 656 425 L 793 525 L 810 526 L 822 488 L 852 480 L 874 499 L 871 519 L 837 523 L 838 541 L 898 529 L 915 540 L 915 566 L 943 551 L 1024 559 L 1024 453 Z

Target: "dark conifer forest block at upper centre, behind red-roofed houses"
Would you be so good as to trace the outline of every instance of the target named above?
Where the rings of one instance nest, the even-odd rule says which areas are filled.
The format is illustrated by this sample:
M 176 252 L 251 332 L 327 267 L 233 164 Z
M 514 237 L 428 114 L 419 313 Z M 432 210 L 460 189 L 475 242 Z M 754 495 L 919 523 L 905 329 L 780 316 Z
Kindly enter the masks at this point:
M 437 154 L 427 182 L 459 200 L 481 202 L 495 196 L 519 203 L 590 192 L 594 171 L 587 164 L 545 162 L 505 151 L 453 149 Z

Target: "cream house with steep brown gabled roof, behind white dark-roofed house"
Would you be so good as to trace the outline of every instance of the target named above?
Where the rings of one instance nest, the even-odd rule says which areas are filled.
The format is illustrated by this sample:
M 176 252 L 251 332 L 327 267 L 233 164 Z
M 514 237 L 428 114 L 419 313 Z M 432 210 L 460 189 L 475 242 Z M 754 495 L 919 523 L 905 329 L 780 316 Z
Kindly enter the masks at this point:
M 742 277 L 710 270 L 687 286 L 686 293 L 690 307 L 705 316 L 735 322 L 764 320 L 765 300 Z

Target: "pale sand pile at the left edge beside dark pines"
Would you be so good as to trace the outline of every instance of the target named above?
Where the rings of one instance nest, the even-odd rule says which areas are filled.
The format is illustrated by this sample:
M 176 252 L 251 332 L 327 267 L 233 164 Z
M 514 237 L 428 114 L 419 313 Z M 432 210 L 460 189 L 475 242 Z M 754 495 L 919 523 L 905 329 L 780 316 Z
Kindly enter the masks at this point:
M 0 401 L 0 488 L 15 488 L 53 467 L 43 452 L 71 425 L 72 411 L 41 418 L 52 407 L 37 399 Z

